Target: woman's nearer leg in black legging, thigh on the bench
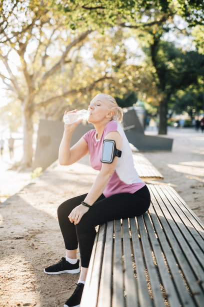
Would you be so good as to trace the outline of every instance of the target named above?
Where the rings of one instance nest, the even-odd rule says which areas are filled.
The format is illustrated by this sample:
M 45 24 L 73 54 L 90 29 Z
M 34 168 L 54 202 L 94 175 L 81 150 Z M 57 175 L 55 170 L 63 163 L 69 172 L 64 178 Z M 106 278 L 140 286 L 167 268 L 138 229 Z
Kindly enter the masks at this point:
M 95 202 L 84 214 L 76 233 L 79 243 L 81 267 L 87 268 L 95 238 L 95 226 L 114 219 L 143 214 L 150 205 L 150 194 L 144 186 L 133 194 L 119 193 Z

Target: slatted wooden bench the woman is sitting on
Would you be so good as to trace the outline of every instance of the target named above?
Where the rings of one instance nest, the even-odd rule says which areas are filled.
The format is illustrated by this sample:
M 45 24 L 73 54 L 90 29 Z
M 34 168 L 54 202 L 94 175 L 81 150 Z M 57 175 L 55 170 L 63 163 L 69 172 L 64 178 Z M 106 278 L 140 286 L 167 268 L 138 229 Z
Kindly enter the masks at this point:
M 100 225 L 80 307 L 204 305 L 204 224 L 165 185 L 137 218 Z

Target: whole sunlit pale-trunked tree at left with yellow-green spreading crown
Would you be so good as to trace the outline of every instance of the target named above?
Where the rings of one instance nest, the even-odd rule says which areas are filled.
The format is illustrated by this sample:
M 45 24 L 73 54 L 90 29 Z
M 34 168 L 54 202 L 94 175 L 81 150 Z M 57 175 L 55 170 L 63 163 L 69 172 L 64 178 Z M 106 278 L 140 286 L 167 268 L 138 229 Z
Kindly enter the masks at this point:
M 30 7 L 25 9 L 27 24 L 20 25 L 18 21 L 19 29 L 13 32 L 9 23 L 4 36 L 0 37 L 0 58 L 5 66 L 0 77 L 21 104 L 22 164 L 28 167 L 32 161 L 33 116 L 36 113 L 41 118 L 61 119 L 65 108 L 84 108 L 91 95 L 98 91 L 125 94 L 139 77 L 137 68 L 132 70 L 131 65 L 126 65 L 127 51 L 121 29 L 106 30 L 104 39 L 91 30 L 70 31 L 64 17 L 53 16 L 46 7 L 36 7 L 33 14 Z M 92 53 L 89 62 L 82 58 L 87 49 Z M 17 73 L 12 71 L 9 60 L 13 52 L 18 56 Z

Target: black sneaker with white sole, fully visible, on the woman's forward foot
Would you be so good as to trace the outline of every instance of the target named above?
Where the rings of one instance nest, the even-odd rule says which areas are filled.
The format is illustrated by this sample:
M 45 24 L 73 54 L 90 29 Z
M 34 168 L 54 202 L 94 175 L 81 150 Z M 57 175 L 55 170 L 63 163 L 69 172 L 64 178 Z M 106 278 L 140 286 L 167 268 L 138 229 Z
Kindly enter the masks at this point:
M 56 264 L 47 266 L 44 269 L 44 272 L 46 274 L 53 274 L 53 275 L 62 274 L 62 273 L 70 273 L 70 274 L 79 273 L 80 272 L 79 260 L 77 260 L 75 264 L 71 264 L 68 261 L 66 261 L 64 257 L 62 257 L 61 260 L 59 260 L 59 262 L 57 262 Z

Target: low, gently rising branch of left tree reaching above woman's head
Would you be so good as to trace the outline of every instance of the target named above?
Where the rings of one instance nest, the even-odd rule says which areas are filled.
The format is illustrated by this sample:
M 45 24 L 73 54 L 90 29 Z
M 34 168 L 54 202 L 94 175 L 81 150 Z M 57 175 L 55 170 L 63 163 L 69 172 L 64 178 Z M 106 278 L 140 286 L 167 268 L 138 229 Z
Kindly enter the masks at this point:
M 33 109 L 34 111 L 40 109 L 41 107 L 44 107 L 46 105 L 48 105 L 49 103 L 51 102 L 54 102 L 56 100 L 60 100 L 62 98 L 65 98 L 67 96 L 70 96 L 70 95 L 73 95 L 73 94 L 76 94 L 78 92 L 83 92 L 83 91 L 87 91 L 87 90 L 91 90 L 93 89 L 94 85 L 100 81 L 103 81 L 103 80 L 106 80 L 106 79 L 112 79 L 112 77 L 102 77 L 98 80 L 95 80 L 94 82 L 92 82 L 89 86 L 87 87 L 82 87 L 82 88 L 79 88 L 79 89 L 72 89 L 70 91 L 67 91 L 67 92 L 64 92 L 62 95 L 58 95 L 58 96 L 55 96 L 55 97 L 51 97 L 45 101 L 42 101 L 40 103 L 37 103 L 33 106 Z

